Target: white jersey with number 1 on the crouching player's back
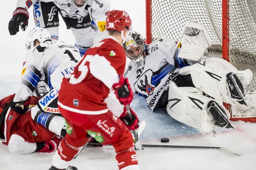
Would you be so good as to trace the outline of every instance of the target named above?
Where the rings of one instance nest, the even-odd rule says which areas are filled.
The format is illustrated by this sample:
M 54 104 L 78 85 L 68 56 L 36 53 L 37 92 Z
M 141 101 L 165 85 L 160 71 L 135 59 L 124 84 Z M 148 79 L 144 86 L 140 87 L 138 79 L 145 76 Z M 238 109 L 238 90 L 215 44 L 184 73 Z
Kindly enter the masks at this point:
M 77 47 L 63 42 L 46 41 L 28 50 L 14 102 L 32 96 L 40 80 L 44 80 L 50 89 L 60 89 L 62 78 L 74 71 L 80 59 Z

